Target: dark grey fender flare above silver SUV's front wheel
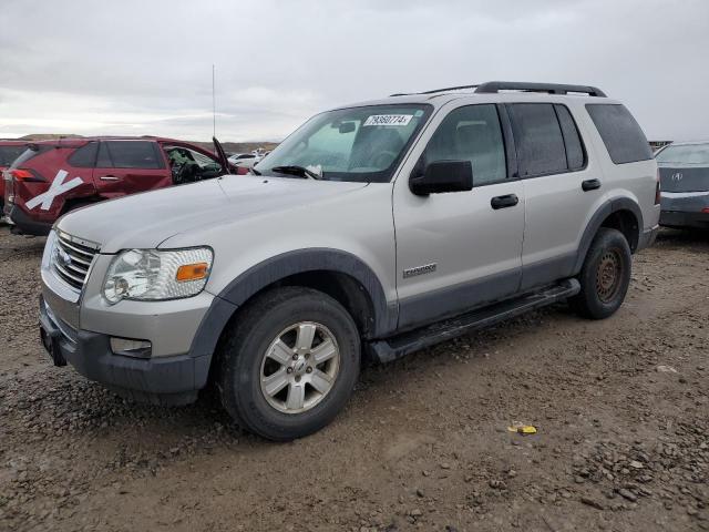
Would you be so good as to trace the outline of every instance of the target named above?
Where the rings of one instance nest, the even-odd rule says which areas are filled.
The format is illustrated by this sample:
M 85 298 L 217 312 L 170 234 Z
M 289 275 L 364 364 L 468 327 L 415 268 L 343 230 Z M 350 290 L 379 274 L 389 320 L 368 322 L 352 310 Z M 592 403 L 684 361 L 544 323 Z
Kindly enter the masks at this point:
M 395 328 L 398 306 L 388 306 L 382 285 L 367 264 L 354 255 L 338 249 L 296 249 L 251 266 L 216 295 L 193 339 L 191 356 L 212 356 L 234 313 L 259 290 L 291 275 L 316 270 L 348 275 L 364 288 L 372 304 L 374 335 Z

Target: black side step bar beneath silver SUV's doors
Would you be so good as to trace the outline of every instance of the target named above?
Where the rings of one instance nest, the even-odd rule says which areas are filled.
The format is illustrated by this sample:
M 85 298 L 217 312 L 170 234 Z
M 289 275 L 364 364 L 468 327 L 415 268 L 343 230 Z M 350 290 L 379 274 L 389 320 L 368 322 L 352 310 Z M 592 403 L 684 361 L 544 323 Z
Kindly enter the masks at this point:
M 374 360 L 386 364 L 424 347 L 450 340 L 521 314 L 575 296 L 580 291 L 577 279 L 565 279 L 541 291 L 501 301 L 485 308 L 369 344 Z

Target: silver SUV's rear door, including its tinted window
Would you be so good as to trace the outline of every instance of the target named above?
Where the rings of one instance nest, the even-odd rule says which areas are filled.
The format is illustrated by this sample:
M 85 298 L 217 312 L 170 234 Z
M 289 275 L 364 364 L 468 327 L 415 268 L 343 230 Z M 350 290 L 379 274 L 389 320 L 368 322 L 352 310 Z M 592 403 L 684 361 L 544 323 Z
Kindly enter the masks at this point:
M 524 183 L 523 290 L 572 275 L 578 242 L 603 202 L 603 175 L 588 162 L 568 108 L 507 104 Z

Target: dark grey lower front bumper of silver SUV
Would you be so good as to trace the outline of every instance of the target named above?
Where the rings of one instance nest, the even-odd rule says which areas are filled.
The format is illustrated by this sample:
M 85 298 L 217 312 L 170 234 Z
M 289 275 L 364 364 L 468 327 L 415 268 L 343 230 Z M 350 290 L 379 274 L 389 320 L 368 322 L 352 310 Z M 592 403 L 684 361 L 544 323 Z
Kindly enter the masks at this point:
M 186 405 L 205 387 L 210 356 L 179 355 L 140 359 L 114 355 L 110 336 L 74 329 L 40 299 L 42 344 L 54 364 L 65 360 L 88 379 L 143 402 Z

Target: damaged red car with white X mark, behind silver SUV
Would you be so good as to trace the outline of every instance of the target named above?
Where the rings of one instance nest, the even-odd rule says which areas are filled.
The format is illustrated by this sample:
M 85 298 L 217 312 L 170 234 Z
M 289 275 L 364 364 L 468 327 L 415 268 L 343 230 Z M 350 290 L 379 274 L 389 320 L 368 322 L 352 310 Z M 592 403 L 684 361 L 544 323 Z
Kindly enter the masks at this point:
M 14 233 L 47 235 L 64 213 L 104 200 L 236 173 L 217 155 L 161 137 L 82 137 L 25 143 L 4 174 Z

